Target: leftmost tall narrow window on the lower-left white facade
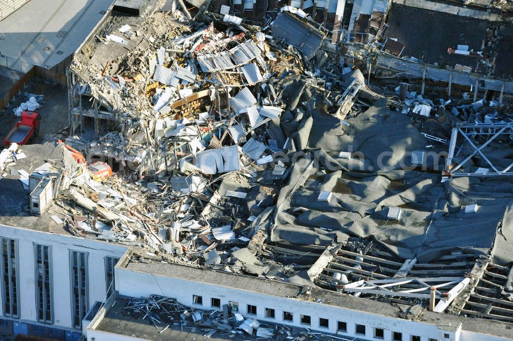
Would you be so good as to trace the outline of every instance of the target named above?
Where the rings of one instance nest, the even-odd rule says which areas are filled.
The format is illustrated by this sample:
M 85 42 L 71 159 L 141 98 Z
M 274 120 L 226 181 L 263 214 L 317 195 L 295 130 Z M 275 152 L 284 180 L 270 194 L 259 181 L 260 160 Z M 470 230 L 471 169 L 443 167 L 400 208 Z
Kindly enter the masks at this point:
M 4 315 L 19 317 L 18 241 L 2 238 L 2 296 Z

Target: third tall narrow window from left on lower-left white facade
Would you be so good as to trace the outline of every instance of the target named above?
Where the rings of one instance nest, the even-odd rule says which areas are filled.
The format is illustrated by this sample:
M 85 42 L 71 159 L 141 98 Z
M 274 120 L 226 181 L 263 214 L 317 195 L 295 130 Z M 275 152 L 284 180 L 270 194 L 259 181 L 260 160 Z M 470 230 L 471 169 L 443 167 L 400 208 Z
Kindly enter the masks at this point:
M 70 251 L 71 318 L 73 328 L 82 328 L 82 319 L 89 310 L 87 252 Z

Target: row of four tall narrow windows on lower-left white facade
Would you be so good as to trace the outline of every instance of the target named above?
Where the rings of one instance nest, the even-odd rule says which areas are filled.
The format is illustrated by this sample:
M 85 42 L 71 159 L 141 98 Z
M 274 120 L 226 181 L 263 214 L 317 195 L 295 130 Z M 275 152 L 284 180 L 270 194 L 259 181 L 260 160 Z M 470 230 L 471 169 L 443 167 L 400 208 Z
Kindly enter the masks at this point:
M 4 315 L 18 318 L 18 241 L 0 238 L 2 244 L 2 302 Z M 74 328 L 82 327 L 89 310 L 88 253 L 69 251 L 71 317 Z M 106 294 L 114 291 L 114 266 L 119 258 L 105 257 Z M 53 324 L 53 273 L 51 246 L 34 244 L 35 298 L 38 322 Z

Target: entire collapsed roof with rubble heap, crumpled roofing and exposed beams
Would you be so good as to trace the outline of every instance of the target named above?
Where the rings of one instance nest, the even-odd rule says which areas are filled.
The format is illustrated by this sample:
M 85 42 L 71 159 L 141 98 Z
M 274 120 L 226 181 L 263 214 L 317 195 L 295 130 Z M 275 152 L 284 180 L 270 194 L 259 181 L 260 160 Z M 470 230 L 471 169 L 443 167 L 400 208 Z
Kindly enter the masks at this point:
M 387 2 L 354 2 L 346 54 L 295 7 L 258 28 L 160 5 L 113 13 L 74 56 L 66 144 L 118 175 L 68 172 L 53 195 L 63 230 L 166 262 L 511 322 L 508 82 L 487 79 L 479 101 L 478 87 L 473 99 L 438 83 L 428 93 L 429 77 L 447 75 L 449 89 L 477 78 L 400 58 L 404 46 L 382 36 Z M 363 74 L 371 57 L 380 85 Z M 422 85 L 386 77 L 398 70 Z

